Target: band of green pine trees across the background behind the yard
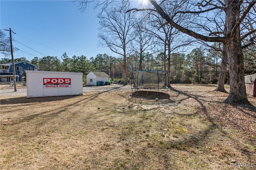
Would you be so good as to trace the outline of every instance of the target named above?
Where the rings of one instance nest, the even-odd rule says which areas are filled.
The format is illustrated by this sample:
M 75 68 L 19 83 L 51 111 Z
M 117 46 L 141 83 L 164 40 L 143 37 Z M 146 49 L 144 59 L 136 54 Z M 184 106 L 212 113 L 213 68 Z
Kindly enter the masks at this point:
M 253 47 L 255 48 L 255 47 Z M 244 51 L 245 74 L 252 74 L 256 70 L 256 50 Z M 164 70 L 168 68 L 164 53 L 143 53 L 142 60 L 136 53 L 127 56 L 128 82 L 133 71 L 139 70 L 141 62 L 142 70 Z M 66 52 L 61 57 L 45 56 L 34 57 L 31 61 L 25 57 L 15 58 L 15 62 L 27 61 L 39 67 L 40 71 L 64 71 L 83 73 L 83 81 L 90 71 L 103 71 L 110 75 L 112 80 L 123 80 L 124 68 L 122 57 L 112 57 L 107 54 L 98 54 L 88 59 L 85 55 L 69 57 Z M 174 53 L 170 57 L 170 83 L 217 83 L 220 71 L 221 53 L 212 48 L 194 48 L 190 53 Z M 11 63 L 9 57 L 4 57 L 0 63 Z M 229 82 L 228 72 L 225 83 Z

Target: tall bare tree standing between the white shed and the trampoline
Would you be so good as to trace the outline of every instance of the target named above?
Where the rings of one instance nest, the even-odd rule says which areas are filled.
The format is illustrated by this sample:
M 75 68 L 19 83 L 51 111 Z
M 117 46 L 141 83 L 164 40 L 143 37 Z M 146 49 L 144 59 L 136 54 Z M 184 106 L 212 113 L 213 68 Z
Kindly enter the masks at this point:
M 132 36 L 135 14 L 126 13 L 129 8 L 128 3 L 116 2 L 115 6 L 104 9 L 98 15 L 100 19 L 99 37 L 102 40 L 101 44 L 123 57 L 124 85 L 127 84 L 127 48 L 128 44 L 135 38 Z

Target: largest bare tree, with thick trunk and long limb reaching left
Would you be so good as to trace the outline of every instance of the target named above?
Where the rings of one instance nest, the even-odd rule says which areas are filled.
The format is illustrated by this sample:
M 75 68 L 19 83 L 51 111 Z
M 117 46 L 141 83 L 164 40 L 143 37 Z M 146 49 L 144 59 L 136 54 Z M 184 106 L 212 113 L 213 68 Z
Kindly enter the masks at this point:
M 168 24 L 172 25 L 180 32 L 206 42 L 222 42 L 224 44 L 230 74 L 230 93 L 224 102 L 250 105 L 244 84 L 244 56 L 242 53 L 240 24 L 256 4 L 256 0 L 250 2 L 240 0 L 202 0 L 202 2 L 196 4 L 188 1 L 184 9 L 189 10 L 177 12 L 177 14 L 186 13 L 194 15 L 195 20 L 188 23 L 186 28 L 177 24 L 177 22 L 163 10 L 161 6 L 163 6 L 162 4 L 164 4 L 165 1 L 157 3 L 155 0 L 149 0 L 149 2 L 152 4 L 153 8 L 131 9 L 129 11 L 150 10 L 157 12 Z M 211 19 L 210 16 L 212 16 Z M 225 25 L 220 26 L 222 30 L 216 29 L 212 23 L 212 21 L 217 20 L 217 16 L 225 17 L 219 19 L 222 20 L 222 22 L 215 22 L 220 24 L 225 23 Z M 225 20 L 225 22 L 223 22 L 223 20 Z M 193 30 L 193 28 L 197 30 Z M 198 31 L 198 28 L 200 28 L 201 31 Z

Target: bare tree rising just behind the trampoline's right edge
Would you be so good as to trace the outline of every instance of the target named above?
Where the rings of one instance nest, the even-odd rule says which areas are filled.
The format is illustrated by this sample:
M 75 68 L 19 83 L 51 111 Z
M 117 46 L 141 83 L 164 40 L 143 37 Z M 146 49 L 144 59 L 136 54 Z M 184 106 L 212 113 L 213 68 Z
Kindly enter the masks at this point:
M 163 8 L 167 8 L 168 10 L 166 11 L 168 11 L 168 15 L 173 16 L 182 7 L 182 4 L 183 2 L 170 1 L 168 4 L 165 4 Z M 166 24 L 166 21 L 159 14 L 149 12 L 148 15 L 150 28 L 146 29 L 146 32 L 154 37 L 154 47 L 158 47 L 158 52 L 163 52 L 163 69 L 164 71 L 167 71 L 168 79 L 170 79 L 172 54 L 176 54 L 184 50 L 186 45 L 190 44 L 190 40 L 188 40 L 185 34 L 179 32 L 172 25 Z M 186 14 L 180 14 L 179 16 L 175 16 L 175 18 L 179 23 L 181 20 L 186 18 Z M 168 87 L 170 87 L 169 80 Z

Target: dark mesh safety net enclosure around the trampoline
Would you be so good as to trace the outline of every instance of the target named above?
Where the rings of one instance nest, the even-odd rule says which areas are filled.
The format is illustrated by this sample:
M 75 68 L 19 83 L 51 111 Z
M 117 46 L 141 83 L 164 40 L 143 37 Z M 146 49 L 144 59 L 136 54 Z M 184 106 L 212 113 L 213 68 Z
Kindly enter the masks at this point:
M 166 88 L 167 72 L 159 70 L 133 71 L 134 89 L 162 89 Z

